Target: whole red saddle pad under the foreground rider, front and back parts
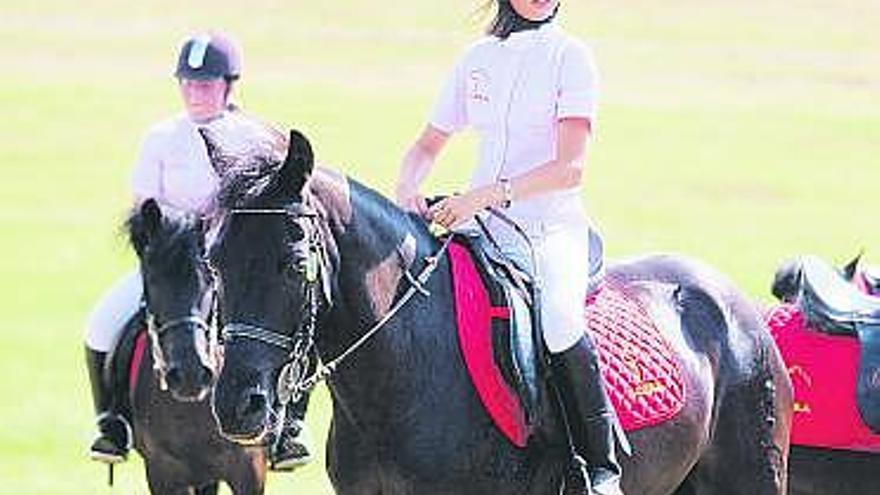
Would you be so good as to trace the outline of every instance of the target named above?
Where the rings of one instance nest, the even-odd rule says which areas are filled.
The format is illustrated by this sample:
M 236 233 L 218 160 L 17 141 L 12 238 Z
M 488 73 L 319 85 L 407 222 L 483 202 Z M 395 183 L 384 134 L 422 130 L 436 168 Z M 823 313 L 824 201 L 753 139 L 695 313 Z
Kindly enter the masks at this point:
M 492 307 L 467 249 L 451 244 L 459 346 L 477 394 L 498 429 L 524 447 L 529 425 L 520 397 L 504 379 L 492 346 Z M 599 349 L 606 390 L 627 431 L 662 423 L 684 406 L 680 366 L 647 311 L 633 297 L 606 284 L 587 301 L 585 318 Z

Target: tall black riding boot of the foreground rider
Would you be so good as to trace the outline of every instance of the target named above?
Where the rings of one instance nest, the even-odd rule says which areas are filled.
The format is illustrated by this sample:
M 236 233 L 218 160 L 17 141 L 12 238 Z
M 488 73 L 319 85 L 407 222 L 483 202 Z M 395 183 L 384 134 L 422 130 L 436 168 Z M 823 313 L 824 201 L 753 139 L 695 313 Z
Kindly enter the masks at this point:
M 622 495 L 621 468 L 615 454 L 614 410 L 605 395 L 592 342 L 581 337 L 572 348 L 554 354 L 552 360 L 572 445 L 587 465 L 592 492 Z

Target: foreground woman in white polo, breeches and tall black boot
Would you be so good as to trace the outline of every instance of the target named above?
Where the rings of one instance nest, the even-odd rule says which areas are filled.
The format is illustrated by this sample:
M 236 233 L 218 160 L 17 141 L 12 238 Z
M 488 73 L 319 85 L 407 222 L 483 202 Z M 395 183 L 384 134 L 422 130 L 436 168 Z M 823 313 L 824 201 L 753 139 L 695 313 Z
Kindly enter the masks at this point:
M 525 229 L 535 248 L 544 340 L 572 445 L 595 493 L 620 494 L 616 418 L 583 317 L 589 260 L 601 256 L 589 252 L 580 187 L 596 124 L 596 70 L 587 47 L 553 22 L 558 0 L 491 1 L 497 14 L 488 36 L 458 61 L 403 159 L 397 202 L 447 228 L 504 206 Z M 429 209 L 419 187 L 449 137 L 467 126 L 480 138 L 472 188 Z M 522 241 L 492 218 L 488 224 L 505 251 L 523 258 Z

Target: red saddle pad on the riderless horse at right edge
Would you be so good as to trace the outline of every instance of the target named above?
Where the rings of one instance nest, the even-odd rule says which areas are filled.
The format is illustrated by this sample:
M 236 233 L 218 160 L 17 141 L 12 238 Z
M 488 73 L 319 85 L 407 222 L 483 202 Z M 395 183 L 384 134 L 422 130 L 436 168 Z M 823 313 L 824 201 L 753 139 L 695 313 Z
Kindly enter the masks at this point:
M 791 443 L 880 452 L 880 435 L 865 425 L 856 405 L 858 340 L 810 329 L 792 304 L 774 307 L 766 321 L 794 385 Z

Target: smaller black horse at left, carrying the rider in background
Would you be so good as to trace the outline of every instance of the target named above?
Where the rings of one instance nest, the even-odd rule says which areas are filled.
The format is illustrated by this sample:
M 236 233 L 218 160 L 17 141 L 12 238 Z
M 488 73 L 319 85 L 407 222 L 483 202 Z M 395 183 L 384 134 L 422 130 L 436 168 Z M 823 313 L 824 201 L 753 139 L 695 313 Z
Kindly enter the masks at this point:
M 208 495 L 225 481 L 236 495 L 263 493 L 264 452 L 221 437 L 205 400 L 217 353 L 208 347 L 213 291 L 202 221 L 147 200 L 127 227 L 140 259 L 152 348 L 130 393 L 150 491 Z

